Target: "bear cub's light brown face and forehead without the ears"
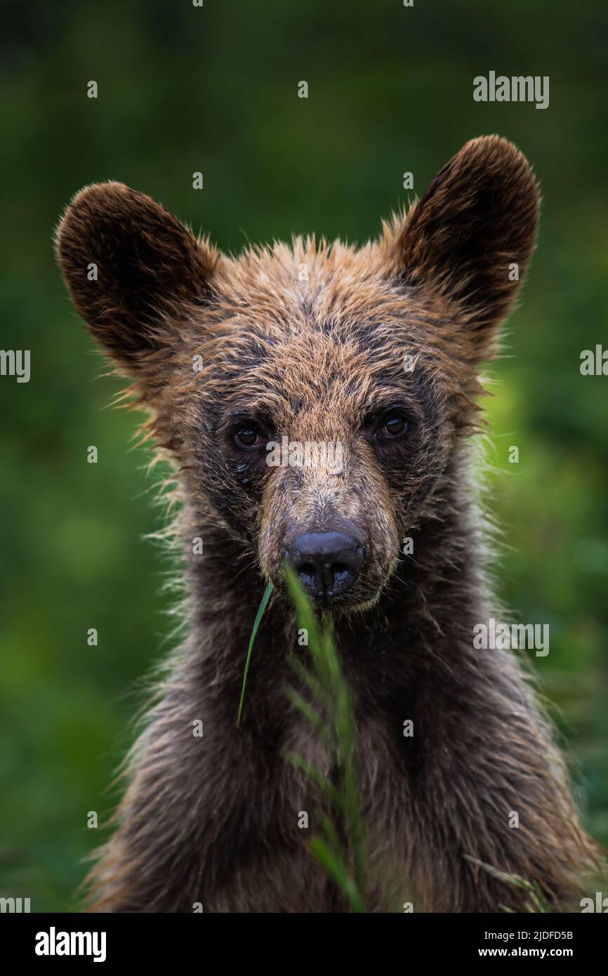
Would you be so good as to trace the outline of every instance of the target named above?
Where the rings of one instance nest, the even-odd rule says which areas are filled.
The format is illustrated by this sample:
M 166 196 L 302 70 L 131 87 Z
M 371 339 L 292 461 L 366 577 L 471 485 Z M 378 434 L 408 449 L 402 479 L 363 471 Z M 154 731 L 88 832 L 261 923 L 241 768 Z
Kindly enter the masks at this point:
M 453 441 L 453 385 L 417 336 L 429 312 L 386 280 L 372 249 L 363 257 L 310 241 L 261 265 L 241 262 L 256 302 L 245 310 L 224 302 L 218 334 L 190 346 L 203 362 L 198 392 L 186 394 L 198 404 L 184 445 L 196 474 L 190 494 L 207 495 L 248 539 L 276 588 L 292 558 L 318 602 L 362 608 L 389 578 Z M 218 288 L 231 272 L 222 269 Z M 413 369 L 406 349 L 415 350 Z M 321 534 L 346 542 L 338 585 L 332 579 L 325 591 L 314 586 L 314 563 L 306 572 L 314 550 L 298 548 Z M 343 589 L 341 561 L 353 552 L 361 565 Z

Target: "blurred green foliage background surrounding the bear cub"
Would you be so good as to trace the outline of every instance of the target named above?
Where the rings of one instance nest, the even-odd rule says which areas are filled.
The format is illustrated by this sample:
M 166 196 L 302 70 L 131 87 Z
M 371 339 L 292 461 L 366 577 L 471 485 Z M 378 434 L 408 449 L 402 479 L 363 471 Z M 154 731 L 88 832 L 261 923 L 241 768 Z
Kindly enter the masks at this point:
M 131 740 L 135 682 L 166 650 L 167 566 L 142 536 L 138 417 L 69 305 L 54 225 L 86 183 L 152 194 L 223 248 L 315 231 L 362 242 L 466 140 L 498 132 L 543 185 L 540 246 L 486 401 L 501 595 L 550 624 L 534 658 L 608 842 L 605 0 L 0 3 L 0 894 L 68 910 Z M 477 74 L 548 75 L 550 103 L 477 103 Z M 87 82 L 99 98 L 87 98 Z M 298 82 L 309 85 L 307 100 Z M 602 121 L 603 120 L 603 121 Z M 192 189 L 192 173 L 204 189 Z M 86 449 L 99 448 L 98 465 Z M 507 462 L 519 447 L 518 465 Z M 99 629 L 89 647 L 87 630 Z

